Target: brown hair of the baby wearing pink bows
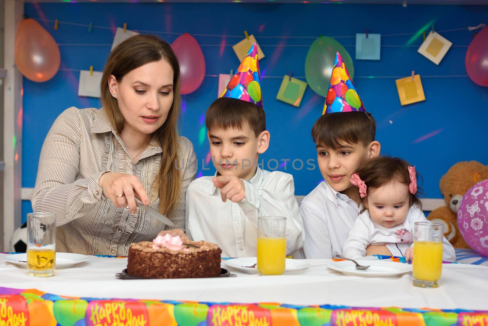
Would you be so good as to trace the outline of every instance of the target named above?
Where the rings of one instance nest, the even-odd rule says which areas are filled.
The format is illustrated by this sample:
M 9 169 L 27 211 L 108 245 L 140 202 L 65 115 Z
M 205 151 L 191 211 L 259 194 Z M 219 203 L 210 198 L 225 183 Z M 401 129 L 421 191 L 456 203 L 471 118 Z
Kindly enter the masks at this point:
M 355 173 L 365 182 L 369 192 L 388 184 L 392 180 L 398 180 L 408 186 L 410 184 L 409 166 L 412 165 L 399 157 L 378 156 L 367 159 Z M 416 174 L 417 179 L 422 177 L 418 172 Z M 422 209 L 422 201 L 419 198 L 419 195 L 424 195 L 422 188 L 417 186 L 415 194 L 408 194 L 410 195 L 410 206 L 415 204 Z M 367 196 L 361 200 L 364 202 L 366 198 Z

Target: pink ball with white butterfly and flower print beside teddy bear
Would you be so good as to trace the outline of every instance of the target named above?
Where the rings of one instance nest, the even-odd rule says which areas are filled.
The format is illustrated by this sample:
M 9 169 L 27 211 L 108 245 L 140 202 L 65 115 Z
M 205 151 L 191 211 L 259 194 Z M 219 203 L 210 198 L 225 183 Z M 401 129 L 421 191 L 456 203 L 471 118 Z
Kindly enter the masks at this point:
M 488 180 L 478 182 L 464 194 L 457 218 L 466 243 L 488 257 Z

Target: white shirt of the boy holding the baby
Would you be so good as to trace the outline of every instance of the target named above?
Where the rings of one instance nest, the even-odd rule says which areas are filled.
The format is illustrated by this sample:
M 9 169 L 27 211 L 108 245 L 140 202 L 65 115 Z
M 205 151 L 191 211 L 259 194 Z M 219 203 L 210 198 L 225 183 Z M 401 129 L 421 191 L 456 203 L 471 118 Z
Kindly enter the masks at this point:
M 327 182 L 321 182 L 300 203 L 306 235 L 302 258 L 330 259 L 342 255 L 344 242 L 362 209 L 362 204 L 358 206 Z

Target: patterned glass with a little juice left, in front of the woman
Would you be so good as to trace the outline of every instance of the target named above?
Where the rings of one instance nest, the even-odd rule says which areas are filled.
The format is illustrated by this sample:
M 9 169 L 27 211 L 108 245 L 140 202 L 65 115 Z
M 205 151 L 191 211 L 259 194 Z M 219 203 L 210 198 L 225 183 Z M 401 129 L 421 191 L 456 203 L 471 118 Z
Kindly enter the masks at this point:
M 54 276 L 56 267 L 56 215 L 27 214 L 27 275 Z

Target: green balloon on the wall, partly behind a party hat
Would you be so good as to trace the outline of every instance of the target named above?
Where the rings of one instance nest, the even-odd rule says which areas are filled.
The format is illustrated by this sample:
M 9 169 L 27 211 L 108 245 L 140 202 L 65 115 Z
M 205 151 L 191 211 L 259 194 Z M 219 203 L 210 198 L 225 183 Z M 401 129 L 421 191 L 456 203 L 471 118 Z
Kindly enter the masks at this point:
M 351 79 L 354 78 L 354 65 L 351 56 L 341 43 L 331 37 L 321 36 L 308 49 L 305 59 L 306 82 L 320 96 L 327 96 L 336 52 L 341 54 Z

